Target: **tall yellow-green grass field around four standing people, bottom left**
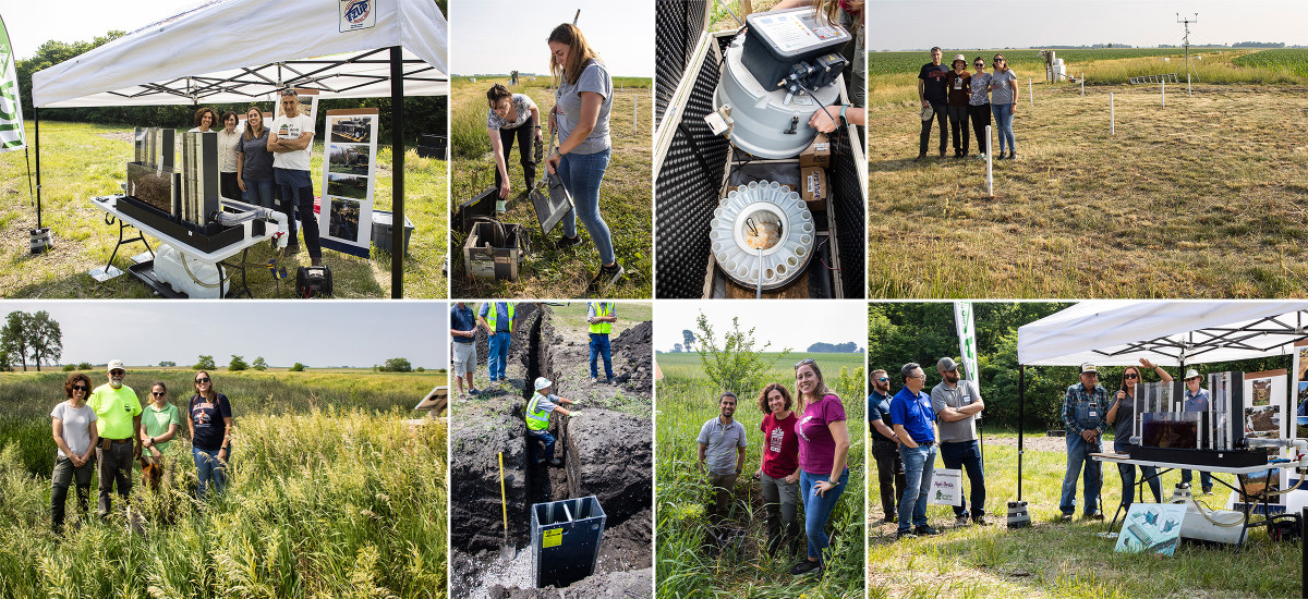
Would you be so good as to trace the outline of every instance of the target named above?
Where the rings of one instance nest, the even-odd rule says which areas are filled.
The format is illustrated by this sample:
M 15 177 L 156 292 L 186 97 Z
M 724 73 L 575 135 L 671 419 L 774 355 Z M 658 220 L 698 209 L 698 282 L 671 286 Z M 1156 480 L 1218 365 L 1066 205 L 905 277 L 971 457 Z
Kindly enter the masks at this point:
M 127 385 L 164 379 L 184 409 L 188 394 L 174 394 L 192 374 L 133 368 Z M 48 412 L 65 374 L 0 381 L 0 596 L 445 596 L 445 425 L 404 424 L 442 374 L 212 375 L 234 415 L 226 492 L 192 498 L 183 426 L 167 451 L 174 489 L 154 496 L 133 477 L 143 535 L 120 511 L 81 521 L 69 492 L 63 538 L 50 532 Z M 93 510 L 94 498 L 93 480 Z

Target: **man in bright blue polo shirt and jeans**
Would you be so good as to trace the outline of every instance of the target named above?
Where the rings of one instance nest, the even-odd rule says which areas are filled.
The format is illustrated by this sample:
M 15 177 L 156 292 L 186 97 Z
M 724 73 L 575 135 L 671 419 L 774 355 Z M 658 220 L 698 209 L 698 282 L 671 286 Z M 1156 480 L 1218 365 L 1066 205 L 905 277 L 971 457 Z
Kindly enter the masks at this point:
M 900 498 L 897 538 L 939 534 L 926 523 L 926 498 L 935 472 L 935 411 L 922 392 L 926 373 L 917 362 L 900 369 L 904 387 L 891 399 L 891 422 L 904 460 L 904 497 Z

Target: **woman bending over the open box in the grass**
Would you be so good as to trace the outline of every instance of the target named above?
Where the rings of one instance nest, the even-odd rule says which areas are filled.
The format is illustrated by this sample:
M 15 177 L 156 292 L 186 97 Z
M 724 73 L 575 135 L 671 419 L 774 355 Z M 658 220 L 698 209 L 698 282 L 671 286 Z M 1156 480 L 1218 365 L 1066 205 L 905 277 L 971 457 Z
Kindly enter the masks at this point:
M 496 211 L 504 212 L 504 200 L 509 197 L 509 152 L 513 150 L 513 140 L 518 139 L 518 153 L 522 154 L 522 178 L 526 188 L 531 190 L 536 179 L 536 158 L 531 148 L 540 144 L 544 137 L 540 135 L 540 109 L 527 94 L 510 94 L 509 88 L 494 84 L 487 90 L 487 103 L 490 110 L 487 112 L 487 135 L 490 136 L 490 150 L 494 153 L 494 186 L 500 190 L 500 201 Z M 532 143 L 535 137 L 535 143 Z

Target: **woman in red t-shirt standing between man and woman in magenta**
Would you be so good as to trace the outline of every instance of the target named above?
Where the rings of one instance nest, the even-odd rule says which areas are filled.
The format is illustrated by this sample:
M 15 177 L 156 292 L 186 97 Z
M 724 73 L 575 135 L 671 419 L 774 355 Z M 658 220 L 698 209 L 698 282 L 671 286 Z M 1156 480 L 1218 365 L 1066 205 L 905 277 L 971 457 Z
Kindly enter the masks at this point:
M 769 555 L 776 555 L 786 543 L 799 540 L 799 523 L 795 522 L 799 506 L 799 438 L 795 437 L 795 422 L 799 417 L 790 407 L 790 391 L 781 383 L 772 383 L 759 394 L 759 409 L 764 413 L 759 425 L 763 432 L 763 451 L 755 477 L 760 480 L 763 501 L 768 509 Z

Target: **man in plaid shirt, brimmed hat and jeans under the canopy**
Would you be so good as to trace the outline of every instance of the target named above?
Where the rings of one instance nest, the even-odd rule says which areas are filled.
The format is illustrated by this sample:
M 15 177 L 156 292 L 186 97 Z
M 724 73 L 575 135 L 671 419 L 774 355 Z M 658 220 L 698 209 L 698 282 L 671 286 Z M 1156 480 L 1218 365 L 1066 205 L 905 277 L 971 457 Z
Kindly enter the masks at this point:
M 1080 383 L 1067 387 L 1063 396 L 1062 419 L 1067 428 L 1067 473 L 1063 475 L 1062 498 L 1058 509 L 1062 521 L 1070 522 L 1076 511 L 1076 476 L 1086 467 L 1086 518 L 1104 519 L 1099 510 L 1099 489 L 1104 484 L 1099 462 L 1090 454 L 1100 453 L 1100 436 L 1108 429 L 1104 416 L 1109 408 L 1108 391 L 1099 385 L 1099 369 L 1093 364 L 1080 365 Z

